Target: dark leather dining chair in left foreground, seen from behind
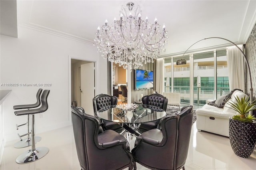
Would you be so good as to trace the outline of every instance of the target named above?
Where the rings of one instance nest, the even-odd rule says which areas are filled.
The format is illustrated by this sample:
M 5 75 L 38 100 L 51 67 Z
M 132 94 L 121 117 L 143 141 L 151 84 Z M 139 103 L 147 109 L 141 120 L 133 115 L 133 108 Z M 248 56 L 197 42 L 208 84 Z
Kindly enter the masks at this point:
M 99 133 L 99 122 L 71 106 L 76 152 L 81 170 L 132 170 L 132 154 L 124 136 L 113 130 Z

